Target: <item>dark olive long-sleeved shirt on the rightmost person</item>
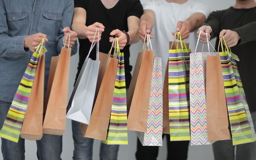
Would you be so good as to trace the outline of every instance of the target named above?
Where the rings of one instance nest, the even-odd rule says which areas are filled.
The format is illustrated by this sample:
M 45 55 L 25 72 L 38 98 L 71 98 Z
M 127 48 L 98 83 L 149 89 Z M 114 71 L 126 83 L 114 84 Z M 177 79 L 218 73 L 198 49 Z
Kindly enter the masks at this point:
M 241 39 L 238 45 L 231 47 L 232 53 L 238 55 L 238 71 L 245 90 L 245 96 L 251 112 L 256 112 L 256 7 L 250 9 L 229 9 L 216 11 L 209 15 L 207 24 L 211 26 L 211 38 L 217 37 L 216 50 L 218 49 L 219 34 L 222 29 L 236 31 Z

